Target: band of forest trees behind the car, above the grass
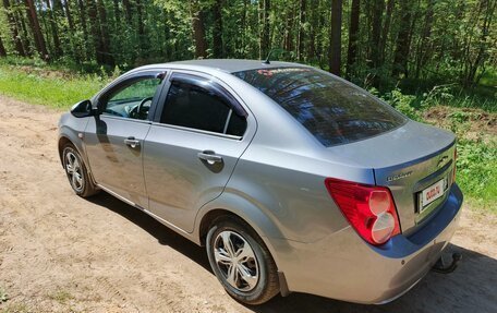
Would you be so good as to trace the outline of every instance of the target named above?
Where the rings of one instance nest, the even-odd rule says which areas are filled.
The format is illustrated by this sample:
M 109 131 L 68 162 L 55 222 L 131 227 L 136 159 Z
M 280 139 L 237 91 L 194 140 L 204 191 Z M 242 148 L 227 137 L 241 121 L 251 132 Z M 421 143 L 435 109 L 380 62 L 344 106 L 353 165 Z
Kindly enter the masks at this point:
M 2 0 L 0 57 L 92 71 L 193 58 L 313 64 L 365 87 L 495 83 L 497 0 Z

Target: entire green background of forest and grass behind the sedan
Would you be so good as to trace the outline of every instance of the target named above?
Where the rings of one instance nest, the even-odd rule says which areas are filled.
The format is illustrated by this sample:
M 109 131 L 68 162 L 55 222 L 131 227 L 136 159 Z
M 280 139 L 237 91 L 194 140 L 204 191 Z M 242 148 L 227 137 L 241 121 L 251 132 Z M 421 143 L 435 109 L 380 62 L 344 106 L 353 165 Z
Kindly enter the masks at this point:
M 293 61 L 458 135 L 458 181 L 497 213 L 497 0 L 2 0 L 0 94 L 69 108 L 135 67 Z

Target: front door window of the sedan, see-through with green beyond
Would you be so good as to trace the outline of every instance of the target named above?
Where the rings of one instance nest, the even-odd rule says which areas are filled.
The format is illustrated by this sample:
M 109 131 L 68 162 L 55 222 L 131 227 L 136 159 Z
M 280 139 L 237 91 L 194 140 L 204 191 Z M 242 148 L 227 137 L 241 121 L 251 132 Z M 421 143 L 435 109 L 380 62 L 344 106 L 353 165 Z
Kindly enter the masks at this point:
M 107 95 L 107 100 L 101 104 L 102 115 L 146 120 L 160 82 L 160 79 L 150 76 L 125 82 Z

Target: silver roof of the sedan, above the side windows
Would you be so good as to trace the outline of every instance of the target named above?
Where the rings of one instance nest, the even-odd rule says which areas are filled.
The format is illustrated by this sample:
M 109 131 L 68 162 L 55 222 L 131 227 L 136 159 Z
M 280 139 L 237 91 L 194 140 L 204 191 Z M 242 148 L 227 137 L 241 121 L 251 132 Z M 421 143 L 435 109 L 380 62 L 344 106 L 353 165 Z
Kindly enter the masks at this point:
M 227 73 L 242 72 L 257 69 L 275 69 L 275 68 L 295 68 L 306 67 L 299 63 L 290 62 L 278 62 L 270 61 L 269 64 L 264 63 L 260 60 L 239 60 L 239 59 L 203 59 L 203 60 L 189 60 L 189 61 L 175 61 L 167 64 L 179 64 L 179 65 L 196 65 L 210 68 L 214 70 L 220 70 Z

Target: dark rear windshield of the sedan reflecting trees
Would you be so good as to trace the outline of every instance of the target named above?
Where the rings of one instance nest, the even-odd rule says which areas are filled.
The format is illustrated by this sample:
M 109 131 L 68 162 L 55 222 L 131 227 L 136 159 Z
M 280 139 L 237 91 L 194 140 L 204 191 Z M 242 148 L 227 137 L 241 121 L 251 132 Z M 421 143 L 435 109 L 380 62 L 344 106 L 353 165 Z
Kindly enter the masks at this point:
M 327 147 L 368 139 L 407 122 L 363 89 L 314 69 L 259 69 L 233 74 L 279 104 Z

